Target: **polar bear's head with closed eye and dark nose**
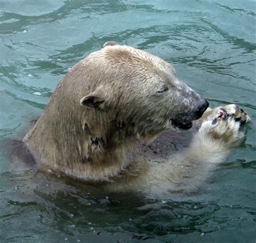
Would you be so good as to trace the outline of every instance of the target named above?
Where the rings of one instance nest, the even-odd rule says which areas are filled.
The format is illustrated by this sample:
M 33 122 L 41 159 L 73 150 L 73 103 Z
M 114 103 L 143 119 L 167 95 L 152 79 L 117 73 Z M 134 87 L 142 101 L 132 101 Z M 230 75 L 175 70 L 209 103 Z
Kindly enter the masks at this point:
M 87 58 L 97 84 L 80 104 L 111 114 L 128 132 L 190 129 L 207 109 L 208 102 L 181 82 L 170 64 L 150 53 L 111 42 Z

